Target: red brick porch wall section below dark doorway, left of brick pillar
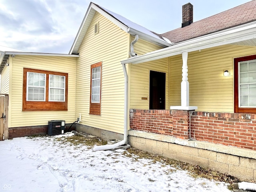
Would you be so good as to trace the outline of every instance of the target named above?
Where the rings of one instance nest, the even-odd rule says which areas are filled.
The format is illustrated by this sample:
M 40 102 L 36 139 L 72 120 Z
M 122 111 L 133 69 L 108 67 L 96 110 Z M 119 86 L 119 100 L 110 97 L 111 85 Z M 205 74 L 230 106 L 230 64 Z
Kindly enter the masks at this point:
M 130 109 L 130 128 L 173 136 L 170 110 Z

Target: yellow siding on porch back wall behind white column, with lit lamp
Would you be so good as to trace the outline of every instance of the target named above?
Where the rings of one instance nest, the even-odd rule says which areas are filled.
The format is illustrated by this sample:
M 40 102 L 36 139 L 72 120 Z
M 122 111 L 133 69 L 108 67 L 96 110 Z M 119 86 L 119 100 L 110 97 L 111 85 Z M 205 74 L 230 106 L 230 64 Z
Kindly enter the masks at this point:
M 255 54 L 255 47 L 218 46 L 188 53 L 190 106 L 198 111 L 234 112 L 233 60 Z M 230 76 L 223 70 L 230 69 Z M 180 105 L 182 56 L 170 57 L 170 106 Z

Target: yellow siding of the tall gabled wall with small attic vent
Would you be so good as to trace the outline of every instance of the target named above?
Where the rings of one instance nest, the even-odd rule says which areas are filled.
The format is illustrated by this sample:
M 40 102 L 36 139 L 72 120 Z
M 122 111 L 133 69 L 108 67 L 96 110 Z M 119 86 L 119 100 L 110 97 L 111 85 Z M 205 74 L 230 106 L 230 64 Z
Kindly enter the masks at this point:
M 94 35 L 94 24 L 99 33 Z M 121 60 L 127 59 L 129 36 L 96 12 L 79 48 L 76 81 L 76 117 L 82 124 L 123 133 L 124 73 Z M 102 62 L 101 116 L 90 115 L 90 65 Z

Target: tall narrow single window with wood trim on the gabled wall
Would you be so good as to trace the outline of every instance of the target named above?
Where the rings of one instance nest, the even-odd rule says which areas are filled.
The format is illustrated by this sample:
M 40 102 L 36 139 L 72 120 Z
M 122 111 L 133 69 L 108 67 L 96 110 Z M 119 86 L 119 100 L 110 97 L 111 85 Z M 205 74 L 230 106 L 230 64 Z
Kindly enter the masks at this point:
M 91 65 L 90 114 L 100 115 L 102 62 Z

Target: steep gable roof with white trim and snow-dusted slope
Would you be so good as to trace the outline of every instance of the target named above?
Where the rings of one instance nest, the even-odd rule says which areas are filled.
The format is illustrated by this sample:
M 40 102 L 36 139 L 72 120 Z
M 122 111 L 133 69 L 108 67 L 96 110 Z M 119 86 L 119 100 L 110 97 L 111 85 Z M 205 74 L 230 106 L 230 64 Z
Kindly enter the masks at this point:
M 84 36 L 90 26 L 90 23 L 92 22 L 92 19 L 94 17 L 94 14 L 96 12 L 99 12 L 104 17 L 108 18 L 108 20 L 112 21 L 114 24 L 119 26 L 122 30 L 125 32 L 131 34 L 131 35 L 139 35 L 139 38 L 144 39 L 146 41 L 152 42 L 154 44 L 160 45 L 162 47 L 168 47 L 171 46 L 171 42 L 169 40 L 166 40 L 162 38 L 159 34 L 156 34 L 126 18 L 123 16 L 120 16 L 119 14 L 116 14 L 112 11 L 109 11 L 97 4 L 90 3 L 89 8 L 84 16 L 84 20 L 82 21 L 82 24 L 78 30 L 78 33 L 76 35 L 76 38 L 74 40 L 74 43 L 70 49 L 69 54 L 77 54 L 78 49 L 82 43 L 82 40 L 84 39 Z

